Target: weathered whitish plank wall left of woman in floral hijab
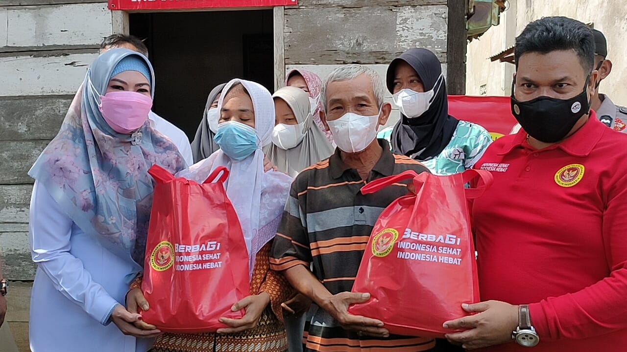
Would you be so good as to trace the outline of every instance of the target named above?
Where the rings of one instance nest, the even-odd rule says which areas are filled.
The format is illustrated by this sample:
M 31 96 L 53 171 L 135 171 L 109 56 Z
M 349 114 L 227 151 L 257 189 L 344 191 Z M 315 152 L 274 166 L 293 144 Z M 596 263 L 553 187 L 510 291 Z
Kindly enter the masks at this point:
M 28 170 L 117 21 L 97 0 L 0 2 L 0 257 L 8 279 L 34 278 Z

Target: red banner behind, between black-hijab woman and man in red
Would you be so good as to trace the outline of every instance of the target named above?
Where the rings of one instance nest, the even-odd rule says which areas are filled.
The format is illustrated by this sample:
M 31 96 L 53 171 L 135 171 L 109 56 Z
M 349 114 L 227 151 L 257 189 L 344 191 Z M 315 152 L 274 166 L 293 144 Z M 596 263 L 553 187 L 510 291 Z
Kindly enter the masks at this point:
M 509 96 L 449 95 L 448 113 L 483 126 L 493 139 L 508 135 L 516 124 Z

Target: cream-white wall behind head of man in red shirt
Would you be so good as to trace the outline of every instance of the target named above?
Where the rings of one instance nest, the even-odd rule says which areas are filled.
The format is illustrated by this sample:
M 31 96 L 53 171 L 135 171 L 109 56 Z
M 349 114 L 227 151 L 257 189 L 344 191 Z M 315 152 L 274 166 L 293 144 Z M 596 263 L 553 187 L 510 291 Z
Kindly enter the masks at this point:
M 566 16 L 583 23 L 593 23 L 608 39 L 608 59 L 614 67 L 601 83 L 601 93 L 608 93 L 614 103 L 627 105 L 627 1 L 607 0 L 509 0 L 510 9 L 501 14 L 502 22 L 478 40 L 468 44 L 466 94 L 479 95 L 487 85 L 488 95 L 510 95 L 514 65 L 491 63 L 489 56 L 514 44 L 514 38 L 535 19 Z M 503 18 L 504 17 L 504 18 Z

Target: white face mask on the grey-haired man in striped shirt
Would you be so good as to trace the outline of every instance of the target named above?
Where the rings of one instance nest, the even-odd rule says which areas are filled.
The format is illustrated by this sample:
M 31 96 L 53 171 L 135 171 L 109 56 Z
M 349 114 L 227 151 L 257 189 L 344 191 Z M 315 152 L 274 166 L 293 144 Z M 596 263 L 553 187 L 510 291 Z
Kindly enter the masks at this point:
M 377 137 L 379 115 L 381 109 L 373 116 L 345 113 L 337 120 L 327 121 L 337 147 L 346 153 L 357 153 L 366 149 Z

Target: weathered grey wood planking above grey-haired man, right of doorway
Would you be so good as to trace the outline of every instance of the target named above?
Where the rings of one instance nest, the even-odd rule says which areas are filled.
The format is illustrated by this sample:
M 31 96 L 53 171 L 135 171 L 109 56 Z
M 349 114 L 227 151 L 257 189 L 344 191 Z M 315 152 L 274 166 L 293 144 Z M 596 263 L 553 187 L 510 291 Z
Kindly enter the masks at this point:
M 388 64 L 418 46 L 446 62 L 446 0 L 298 3 L 285 8 L 286 65 Z

